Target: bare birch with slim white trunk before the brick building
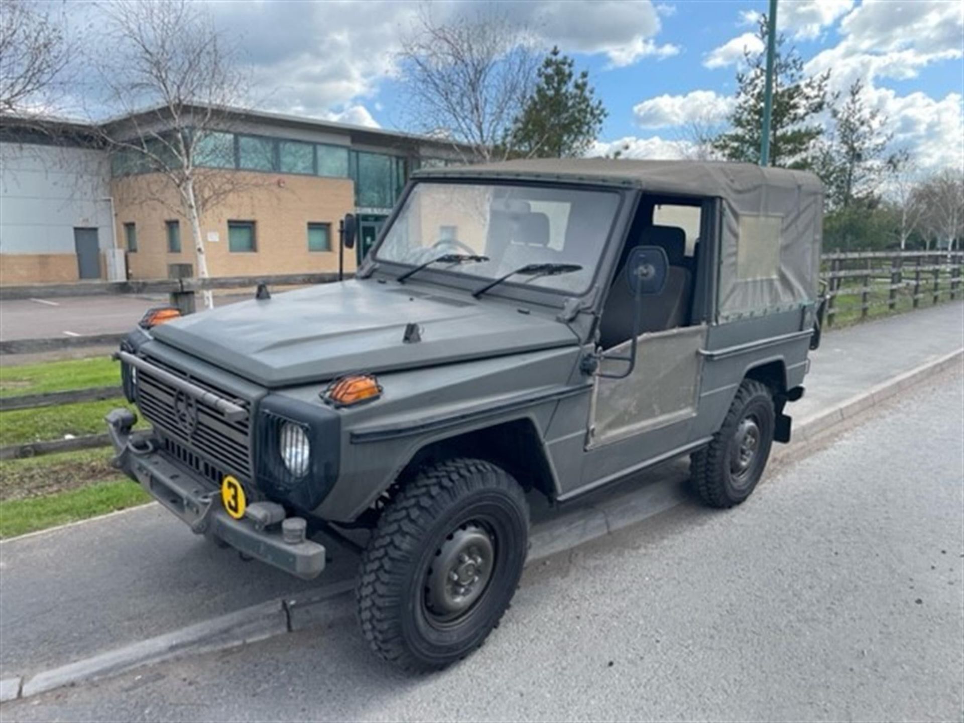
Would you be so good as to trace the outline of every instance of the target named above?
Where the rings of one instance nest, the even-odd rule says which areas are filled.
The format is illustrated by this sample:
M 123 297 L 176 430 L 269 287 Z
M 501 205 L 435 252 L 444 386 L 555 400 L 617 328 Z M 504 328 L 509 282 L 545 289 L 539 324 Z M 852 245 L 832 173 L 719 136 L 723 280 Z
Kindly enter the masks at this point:
M 207 278 L 201 217 L 252 185 L 248 174 L 225 171 L 234 167 L 227 133 L 245 78 L 200 4 L 123 0 L 102 11 L 110 41 L 97 66 L 121 120 L 100 125 L 101 133 L 131 171 L 156 174 L 159 183 L 143 184 L 153 201 L 170 205 L 174 188 L 174 210 L 191 227 L 198 276 Z M 210 291 L 203 299 L 213 307 Z

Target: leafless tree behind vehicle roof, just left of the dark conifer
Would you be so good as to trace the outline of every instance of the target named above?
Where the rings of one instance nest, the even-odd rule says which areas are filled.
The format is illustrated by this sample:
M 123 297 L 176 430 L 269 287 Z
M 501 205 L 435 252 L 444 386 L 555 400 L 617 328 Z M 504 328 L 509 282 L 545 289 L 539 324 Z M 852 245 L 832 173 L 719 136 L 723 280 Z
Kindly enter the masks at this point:
M 445 24 L 423 6 L 402 39 L 406 115 L 453 142 L 463 160 L 504 158 L 514 121 L 532 92 L 539 54 L 524 28 L 490 6 Z

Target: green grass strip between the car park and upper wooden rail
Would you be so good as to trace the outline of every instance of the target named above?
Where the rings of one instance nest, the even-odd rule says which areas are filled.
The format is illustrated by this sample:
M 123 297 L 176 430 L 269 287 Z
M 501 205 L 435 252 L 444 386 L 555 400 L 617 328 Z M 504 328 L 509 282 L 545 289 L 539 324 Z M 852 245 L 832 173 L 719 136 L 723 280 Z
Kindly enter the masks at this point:
M 108 357 L 0 366 L 0 396 L 91 387 L 120 387 L 120 366 Z

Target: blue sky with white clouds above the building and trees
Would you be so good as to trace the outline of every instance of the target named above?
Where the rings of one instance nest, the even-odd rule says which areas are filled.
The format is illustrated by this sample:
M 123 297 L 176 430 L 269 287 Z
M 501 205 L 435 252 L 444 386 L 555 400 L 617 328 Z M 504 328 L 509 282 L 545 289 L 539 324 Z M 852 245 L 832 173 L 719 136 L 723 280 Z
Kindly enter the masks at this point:
M 263 110 L 391 129 L 404 126 L 399 41 L 416 2 L 211 2 L 238 41 Z M 679 157 L 693 121 L 721 122 L 733 107 L 743 48 L 753 49 L 766 2 L 531 0 L 496 9 L 558 45 L 589 71 L 608 117 L 592 152 Z M 491 4 L 490 8 L 491 10 Z M 477 13 L 479 2 L 438 0 L 437 19 Z M 964 3 L 960 0 L 780 0 L 780 30 L 809 72 L 830 85 L 855 79 L 889 118 L 895 147 L 924 169 L 964 164 Z

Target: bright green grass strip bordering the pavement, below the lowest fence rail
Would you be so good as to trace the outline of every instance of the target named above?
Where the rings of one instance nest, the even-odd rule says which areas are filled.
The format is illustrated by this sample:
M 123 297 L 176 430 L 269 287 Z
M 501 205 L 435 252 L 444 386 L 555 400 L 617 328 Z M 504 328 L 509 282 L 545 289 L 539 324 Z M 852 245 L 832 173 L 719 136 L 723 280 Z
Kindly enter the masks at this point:
M 0 538 L 86 520 L 148 501 L 150 496 L 140 486 L 122 479 L 54 495 L 0 502 Z

